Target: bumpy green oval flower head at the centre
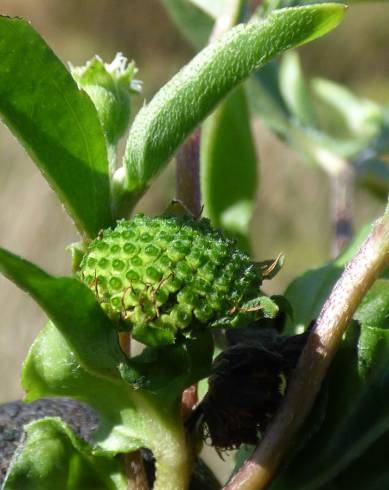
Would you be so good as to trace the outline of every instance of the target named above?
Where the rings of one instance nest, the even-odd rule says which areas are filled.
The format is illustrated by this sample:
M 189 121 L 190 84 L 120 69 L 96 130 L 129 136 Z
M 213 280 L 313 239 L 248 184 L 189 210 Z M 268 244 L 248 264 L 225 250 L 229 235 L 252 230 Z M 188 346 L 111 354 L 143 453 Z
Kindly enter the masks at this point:
M 89 245 L 81 278 L 108 316 L 148 345 L 277 313 L 260 291 L 260 268 L 206 219 L 119 221 Z

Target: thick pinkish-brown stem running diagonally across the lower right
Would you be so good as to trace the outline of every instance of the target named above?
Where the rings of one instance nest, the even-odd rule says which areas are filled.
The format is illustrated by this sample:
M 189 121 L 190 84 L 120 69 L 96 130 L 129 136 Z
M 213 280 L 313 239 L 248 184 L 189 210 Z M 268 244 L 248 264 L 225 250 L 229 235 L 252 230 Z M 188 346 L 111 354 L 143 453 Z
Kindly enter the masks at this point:
M 373 227 L 324 304 L 293 373 L 283 404 L 261 444 L 225 490 L 262 490 L 274 478 L 286 451 L 312 408 L 352 315 L 389 263 L 389 206 Z

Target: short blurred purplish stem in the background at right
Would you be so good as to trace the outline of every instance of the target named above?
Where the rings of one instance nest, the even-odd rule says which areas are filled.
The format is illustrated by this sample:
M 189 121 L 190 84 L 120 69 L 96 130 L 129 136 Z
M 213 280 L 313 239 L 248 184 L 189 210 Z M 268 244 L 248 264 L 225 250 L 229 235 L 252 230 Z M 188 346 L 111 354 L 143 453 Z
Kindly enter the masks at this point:
M 331 175 L 330 184 L 331 215 L 334 229 L 332 256 L 337 257 L 353 235 L 353 171 L 351 165 L 346 165 L 338 174 Z

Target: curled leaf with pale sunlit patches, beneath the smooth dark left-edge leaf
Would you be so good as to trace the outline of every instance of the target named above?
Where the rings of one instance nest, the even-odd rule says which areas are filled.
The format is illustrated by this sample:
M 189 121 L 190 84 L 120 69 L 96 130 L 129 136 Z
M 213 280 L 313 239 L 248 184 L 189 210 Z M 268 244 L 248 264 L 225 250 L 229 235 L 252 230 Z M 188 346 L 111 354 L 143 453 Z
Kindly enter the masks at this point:
M 33 343 L 24 363 L 22 381 L 28 402 L 69 396 L 93 407 L 100 419 L 92 437 L 100 450 L 116 454 L 150 444 L 151 433 L 146 430 L 150 416 L 147 410 L 142 415 L 142 408 L 148 403 L 140 392 L 131 390 L 119 378 L 107 379 L 88 372 L 52 323 Z

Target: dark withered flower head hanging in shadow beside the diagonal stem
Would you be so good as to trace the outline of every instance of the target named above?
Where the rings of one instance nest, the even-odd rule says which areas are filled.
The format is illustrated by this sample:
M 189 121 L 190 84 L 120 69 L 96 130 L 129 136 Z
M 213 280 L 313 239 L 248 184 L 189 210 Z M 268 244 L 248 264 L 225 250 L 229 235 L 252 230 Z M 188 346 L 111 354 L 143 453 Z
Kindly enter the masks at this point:
M 209 390 L 187 421 L 218 450 L 256 444 L 286 389 L 306 335 L 263 332 L 228 347 L 214 361 Z

